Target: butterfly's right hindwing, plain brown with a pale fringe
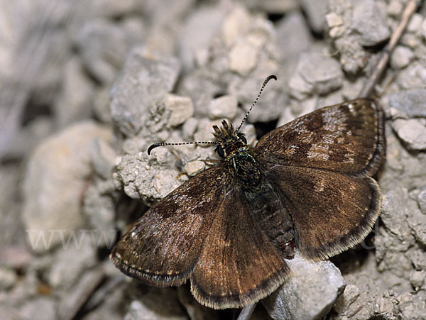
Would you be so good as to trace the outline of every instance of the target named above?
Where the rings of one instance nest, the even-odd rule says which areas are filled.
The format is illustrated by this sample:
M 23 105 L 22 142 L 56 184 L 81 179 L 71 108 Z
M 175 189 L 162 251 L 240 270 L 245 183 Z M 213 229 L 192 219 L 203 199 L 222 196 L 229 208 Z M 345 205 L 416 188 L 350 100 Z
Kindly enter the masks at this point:
M 326 259 L 360 243 L 380 214 L 381 194 L 371 177 L 284 165 L 267 175 L 293 219 L 296 247 L 307 258 Z

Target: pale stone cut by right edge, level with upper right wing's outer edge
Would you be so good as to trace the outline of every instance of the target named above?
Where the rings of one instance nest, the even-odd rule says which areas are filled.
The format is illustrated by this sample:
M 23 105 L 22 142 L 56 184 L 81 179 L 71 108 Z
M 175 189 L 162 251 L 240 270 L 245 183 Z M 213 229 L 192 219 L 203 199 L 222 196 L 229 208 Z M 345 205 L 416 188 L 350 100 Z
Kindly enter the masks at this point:
M 396 119 L 392 127 L 411 150 L 426 149 L 426 118 Z

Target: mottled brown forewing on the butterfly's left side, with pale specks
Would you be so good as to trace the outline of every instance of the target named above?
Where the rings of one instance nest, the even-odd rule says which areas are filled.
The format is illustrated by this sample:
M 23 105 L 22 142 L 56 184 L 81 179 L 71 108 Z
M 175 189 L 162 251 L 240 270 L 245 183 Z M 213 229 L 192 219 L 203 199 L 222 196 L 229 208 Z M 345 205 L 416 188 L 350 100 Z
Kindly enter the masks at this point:
M 148 285 L 184 283 L 224 197 L 225 179 L 222 167 L 212 167 L 154 204 L 112 249 L 114 265 Z

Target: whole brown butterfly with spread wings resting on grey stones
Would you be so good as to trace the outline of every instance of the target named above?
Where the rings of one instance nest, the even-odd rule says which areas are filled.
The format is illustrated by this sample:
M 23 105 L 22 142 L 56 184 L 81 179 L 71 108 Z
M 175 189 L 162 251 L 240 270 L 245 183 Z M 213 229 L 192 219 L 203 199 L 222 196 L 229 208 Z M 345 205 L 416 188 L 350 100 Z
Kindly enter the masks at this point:
M 383 123 L 375 101 L 356 99 L 296 118 L 252 148 L 242 123 L 222 121 L 211 142 L 222 161 L 154 204 L 111 260 L 156 287 L 189 279 L 214 309 L 257 302 L 290 276 L 284 259 L 295 250 L 323 260 L 369 233 L 381 210 L 371 176 L 385 158 Z M 148 153 L 159 145 L 168 144 Z

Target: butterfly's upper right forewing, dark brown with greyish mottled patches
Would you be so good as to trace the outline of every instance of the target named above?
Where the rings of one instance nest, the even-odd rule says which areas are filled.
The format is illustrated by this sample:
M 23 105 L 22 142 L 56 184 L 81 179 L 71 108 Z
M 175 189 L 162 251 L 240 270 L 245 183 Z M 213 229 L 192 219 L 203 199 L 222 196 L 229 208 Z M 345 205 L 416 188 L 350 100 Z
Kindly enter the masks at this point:
M 313 111 L 266 133 L 256 148 L 269 162 L 373 175 L 385 157 L 384 116 L 371 99 Z

